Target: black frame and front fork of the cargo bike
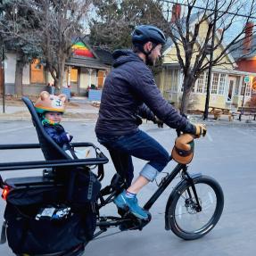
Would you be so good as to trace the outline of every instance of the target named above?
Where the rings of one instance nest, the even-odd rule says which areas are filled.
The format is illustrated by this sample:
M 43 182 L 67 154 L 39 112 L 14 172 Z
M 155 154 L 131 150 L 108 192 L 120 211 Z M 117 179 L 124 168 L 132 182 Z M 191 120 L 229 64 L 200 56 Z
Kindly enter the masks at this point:
M 201 206 L 200 206 L 200 202 L 198 200 L 198 196 L 196 194 L 196 190 L 194 187 L 194 182 L 193 182 L 193 178 L 194 176 L 198 176 L 198 174 L 190 176 L 189 173 L 187 172 L 187 166 L 185 164 L 180 164 L 178 163 L 178 165 L 165 177 L 161 179 L 161 183 L 158 185 L 158 189 L 155 191 L 155 193 L 151 196 L 151 198 L 145 203 L 144 209 L 146 211 L 149 211 L 151 209 L 151 207 L 153 206 L 154 202 L 157 201 L 157 199 L 161 196 L 161 194 L 165 191 L 165 189 L 169 186 L 169 184 L 171 183 L 171 181 L 177 177 L 178 173 L 182 171 L 181 175 L 183 179 L 186 179 L 187 182 L 189 182 L 191 184 L 192 190 L 194 192 L 194 198 L 195 201 L 197 203 L 197 205 L 199 205 L 198 211 L 201 211 Z M 119 192 L 118 191 L 113 191 L 106 200 L 103 200 L 103 202 L 99 205 L 99 209 L 101 209 L 104 205 L 110 203 L 113 201 L 113 198 L 115 195 L 117 195 Z M 190 191 L 188 192 L 190 194 Z M 191 195 L 191 194 L 190 194 Z M 125 219 L 122 217 L 114 217 L 114 216 L 105 216 L 105 217 L 100 217 L 100 220 L 97 223 L 97 227 L 100 228 L 100 231 L 95 233 L 95 236 L 101 235 L 103 232 L 107 231 L 108 227 L 117 227 L 121 224 L 125 224 L 128 221 L 131 221 L 131 219 Z M 150 221 L 150 219 L 148 221 L 142 221 L 140 222 L 138 220 L 138 229 L 142 229 L 142 227 L 144 227 L 148 222 Z

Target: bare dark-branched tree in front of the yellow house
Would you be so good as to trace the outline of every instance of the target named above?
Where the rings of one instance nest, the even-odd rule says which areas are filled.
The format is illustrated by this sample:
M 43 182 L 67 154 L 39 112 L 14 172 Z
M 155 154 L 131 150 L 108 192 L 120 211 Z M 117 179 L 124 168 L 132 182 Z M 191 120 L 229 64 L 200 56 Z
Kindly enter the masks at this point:
M 165 12 L 170 13 L 170 7 L 174 2 L 163 2 L 165 2 Z M 244 41 L 245 37 L 252 37 L 252 34 L 248 35 L 248 33 L 245 36 L 244 32 L 248 29 L 246 24 L 255 15 L 255 1 L 177 2 L 184 4 L 185 12 L 181 16 L 179 12 L 172 12 L 171 20 L 170 15 L 167 15 L 170 23 L 168 36 L 176 47 L 178 62 L 184 75 L 181 112 L 186 112 L 189 96 L 199 75 L 208 70 L 209 65 L 226 64 L 227 54 L 231 54 L 235 48 L 241 46 L 239 43 Z M 213 31 L 214 26 L 215 31 Z M 214 41 L 211 45 L 212 35 Z M 218 54 L 214 54 L 210 60 L 207 55 L 214 51 Z

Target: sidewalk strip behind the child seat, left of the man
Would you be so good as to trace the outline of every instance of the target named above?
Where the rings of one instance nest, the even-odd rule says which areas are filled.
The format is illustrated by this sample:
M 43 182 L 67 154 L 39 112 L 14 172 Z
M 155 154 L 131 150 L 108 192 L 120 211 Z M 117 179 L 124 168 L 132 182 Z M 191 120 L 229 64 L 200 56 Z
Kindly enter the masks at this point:
M 95 121 L 97 119 L 99 108 L 87 101 L 87 98 L 75 97 L 69 103 L 66 103 L 66 111 L 63 116 L 64 121 L 87 120 Z M 29 110 L 20 100 L 11 100 L 5 102 L 5 111 L 0 102 L 0 120 L 30 120 Z

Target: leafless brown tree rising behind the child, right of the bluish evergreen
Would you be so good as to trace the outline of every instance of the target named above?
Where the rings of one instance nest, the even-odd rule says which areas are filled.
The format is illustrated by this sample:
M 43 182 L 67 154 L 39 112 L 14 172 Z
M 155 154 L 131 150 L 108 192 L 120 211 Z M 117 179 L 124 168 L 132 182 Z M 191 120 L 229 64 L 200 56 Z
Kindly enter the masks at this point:
M 34 11 L 39 28 L 35 32 L 43 51 L 46 69 L 57 89 L 63 85 L 65 62 L 72 54 L 71 46 L 87 29 L 90 0 L 27 0 Z

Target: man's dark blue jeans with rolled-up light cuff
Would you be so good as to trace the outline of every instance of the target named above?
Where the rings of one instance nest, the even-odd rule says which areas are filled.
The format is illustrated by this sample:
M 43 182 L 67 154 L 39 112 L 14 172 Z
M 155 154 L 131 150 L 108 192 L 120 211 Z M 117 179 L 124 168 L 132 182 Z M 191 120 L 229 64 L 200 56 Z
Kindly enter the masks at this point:
M 98 136 L 98 141 L 109 150 L 115 169 L 126 179 L 128 186 L 134 177 L 131 156 L 148 161 L 140 175 L 150 181 L 153 181 L 169 162 L 169 153 L 142 130 L 125 136 Z

